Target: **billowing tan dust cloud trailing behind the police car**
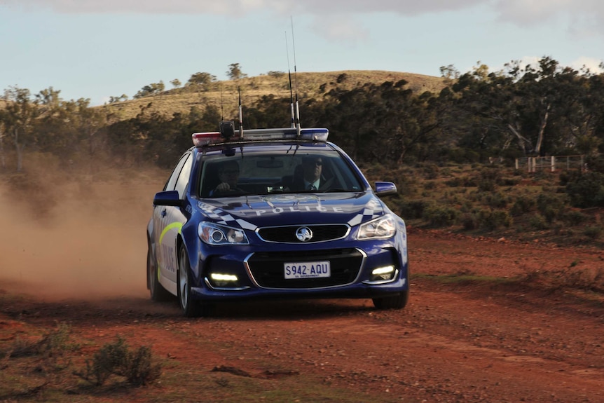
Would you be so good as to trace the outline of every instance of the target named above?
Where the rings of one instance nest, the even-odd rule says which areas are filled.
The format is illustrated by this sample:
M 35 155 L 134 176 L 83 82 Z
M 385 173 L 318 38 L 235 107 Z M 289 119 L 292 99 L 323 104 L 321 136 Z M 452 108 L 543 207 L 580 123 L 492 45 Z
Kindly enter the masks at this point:
M 146 296 L 146 224 L 167 172 L 0 175 L 0 291 Z

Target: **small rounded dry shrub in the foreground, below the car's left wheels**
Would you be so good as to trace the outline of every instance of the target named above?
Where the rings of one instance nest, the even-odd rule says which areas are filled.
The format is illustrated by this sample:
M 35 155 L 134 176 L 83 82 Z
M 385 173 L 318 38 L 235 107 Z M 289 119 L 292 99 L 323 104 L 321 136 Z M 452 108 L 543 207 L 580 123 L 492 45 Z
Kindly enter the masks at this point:
M 86 360 L 87 381 L 100 386 L 110 376 L 123 376 L 133 385 L 146 385 L 155 381 L 161 374 L 161 365 L 151 362 L 151 350 L 142 346 L 135 352 L 121 338 L 115 343 L 107 343 L 95 354 L 92 363 Z

